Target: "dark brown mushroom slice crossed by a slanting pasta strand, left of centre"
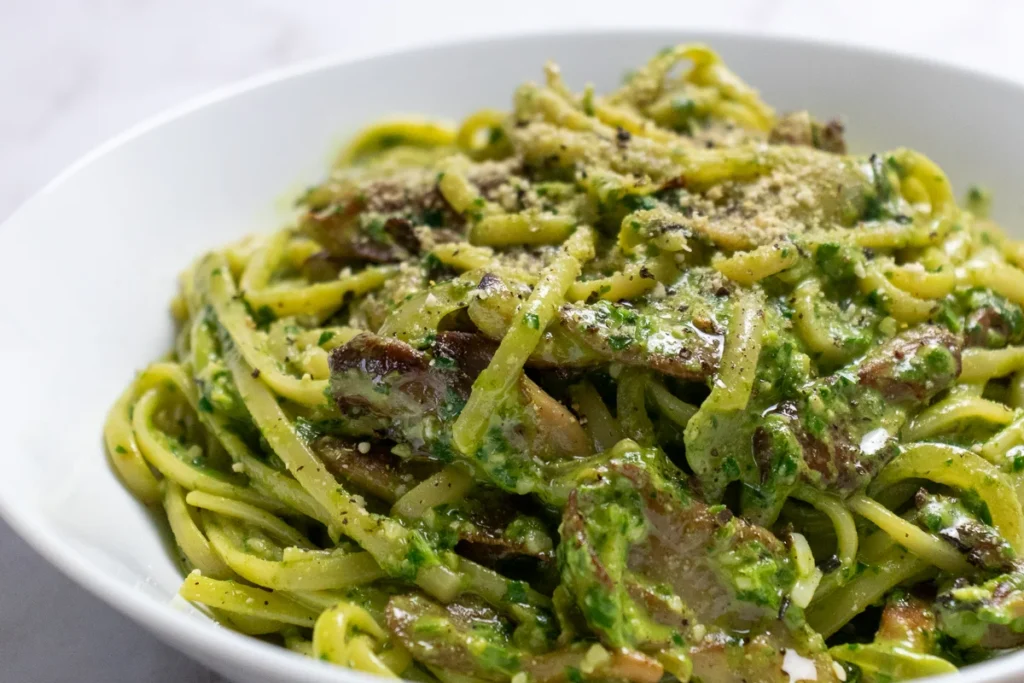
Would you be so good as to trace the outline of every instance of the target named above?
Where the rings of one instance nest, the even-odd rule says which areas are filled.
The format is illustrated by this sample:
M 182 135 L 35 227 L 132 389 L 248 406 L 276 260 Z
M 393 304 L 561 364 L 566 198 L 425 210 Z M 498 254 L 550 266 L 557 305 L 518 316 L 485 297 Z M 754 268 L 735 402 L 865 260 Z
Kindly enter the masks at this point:
M 451 462 L 465 458 L 452 444 L 452 425 L 495 348 L 460 332 L 439 334 L 430 353 L 362 334 L 331 353 L 331 391 L 346 417 L 369 417 L 415 454 Z M 523 375 L 469 461 L 492 483 L 522 494 L 545 483 L 544 463 L 590 453 L 575 417 Z

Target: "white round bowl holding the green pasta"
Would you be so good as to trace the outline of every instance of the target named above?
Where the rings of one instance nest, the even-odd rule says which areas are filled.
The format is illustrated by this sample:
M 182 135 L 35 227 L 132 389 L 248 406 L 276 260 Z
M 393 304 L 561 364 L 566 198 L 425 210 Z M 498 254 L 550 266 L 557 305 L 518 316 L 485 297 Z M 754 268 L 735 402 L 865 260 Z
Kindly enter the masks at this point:
M 1024 88 L 951 67 L 800 41 L 612 32 L 461 43 L 272 74 L 103 145 L 0 228 L 4 517 L 72 579 L 228 678 L 369 680 L 221 629 L 174 600 L 181 574 L 162 523 L 122 487 L 102 452 L 108 408 L 137 369 L 170 347 L 167 304 L 181 267 L 205 249 L 276 227 L 288 200 L 364 124 L 507 106 L 516 84 L 539 79 L 547 59 L 573 86 L 608 89 L 659 48 L 694 40 L 719 50 L 780 111 L 843 115 L 855 151 L 919 148 L 958 191 L 980 182 L 995 193 L 997 218 L 1024 224 Z M 966 676 L 1021 677 L 1024 653 Z

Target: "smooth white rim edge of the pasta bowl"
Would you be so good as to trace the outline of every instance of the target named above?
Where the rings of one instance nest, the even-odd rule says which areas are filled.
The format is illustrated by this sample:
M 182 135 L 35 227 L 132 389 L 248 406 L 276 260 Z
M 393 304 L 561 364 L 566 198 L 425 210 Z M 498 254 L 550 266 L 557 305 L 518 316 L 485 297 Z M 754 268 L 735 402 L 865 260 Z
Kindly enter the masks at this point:
M 529 40 L 614 40 L 618 37 L 650 36 L 662 39 L 674 36 L 673 40 L 706 42 L 714 46 L 716 41 L 740 41 L 759 44 L 763 48 L 772 45 L 791 45 L 808 50 L 823 50 L 837 53 L 843 58 L 884 58 L 909 63 L 914 68 L 952 72 L 972 80 L 986 82 L 998 88 L 1024 90 L 1024 81 L 1015 80 L 1001 74 L 987 72 L 973 66 L 957 65 L 941 57 L 923 56 L 893 49 L 857 44 L 847 40 L 822 40 L 798 35 L 764 34 L 750 30 L 707 29 L 695 27 L 657 27 L 655 25 L 630 28 L 587 28 L 580 30 L 535 30 L 518 31 L 496 35 L 477 35 L 458 39 L 439 38 L 417 41 L 412 45 L 371 49 L 353 55 L 329 54 L 312 59 L 300 60 L 293 65 L 267 70 L 216 87 L 206 93 L 193 96 L 183 102 L 146 117 L 129 126 L 123 132 L 100 142 L 91 151 L 80 156 L 43 184 L 28 199 L 22 201 L 13 212 L 0 221 L 0 234 L 14 230 L 24 213 L 44 203 L 48 195 L 59 189 L 70 178 L 87 169 L 91 164 L 134 139 L 158 130 L 177 119 L 189 116 L 206 106 L 230 99 L 243 93 L 273 86 L 276 83 L 304 75 L 339 68 L 354 67 L 386 57 L 415 59 L 417 55 L 437 50 L 486 50 L 493 44 L 510 44 Z M 36 552 L 43 556 L 67 578 L 86 589 L 122 614 L 143 626 L 161 640 L 169 639 L 171 645 L 189 658 L 198 659 L 205 666 L 211 659 L 220 659 L 245 670 L 258 669 L 264 675 L 280 675 L 288 680 L 310 680 L 326 683 L 341 681 L 364 681 L 372 683 L 377 677 L 356 670 L 317 661 L 287 648 L 266 643 L 220 627 L 212 620 L 198 620 L 176 608 L 172 602 L 160 603 L 150 596 L 133 590 L 96 567 L 83 553 L 62 541 L 47 524 L 33 518 L 31 511 L 12 504 L 0 487 L 0 518 Z M 184 577 L 182 577 L 182 580 Z M 164 637 L 167 634 L 167 638 Z M 928 681 L 969 680 L 974 683 L 994 683 L 1008 675 L 1024 675 L 1024 651 L 971 666 L 967 672 L 948 674 Z

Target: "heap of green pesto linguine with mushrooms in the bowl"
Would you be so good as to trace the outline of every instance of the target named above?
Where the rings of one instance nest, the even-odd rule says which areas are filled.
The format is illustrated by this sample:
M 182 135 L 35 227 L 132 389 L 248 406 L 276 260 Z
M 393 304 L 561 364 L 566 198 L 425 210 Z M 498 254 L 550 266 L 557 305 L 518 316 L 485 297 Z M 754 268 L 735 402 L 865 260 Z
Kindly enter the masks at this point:
M 604 96 L 549 65 L 186 267 L 112 467 L 185 599 L 336 666 L 955 671 L 1024 647 L 1024 244 L 972 198 L 705 46 Z

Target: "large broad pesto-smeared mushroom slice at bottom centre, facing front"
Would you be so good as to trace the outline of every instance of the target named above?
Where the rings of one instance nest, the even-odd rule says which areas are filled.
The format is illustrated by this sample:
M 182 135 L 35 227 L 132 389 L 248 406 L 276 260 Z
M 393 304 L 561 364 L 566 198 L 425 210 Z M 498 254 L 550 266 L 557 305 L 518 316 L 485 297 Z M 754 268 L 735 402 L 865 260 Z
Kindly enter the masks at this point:
M 630 617 L 639 589 L 631 584 L 681 598 L 680 627 L 699 622 L 739 632 L 775 618 L 794 581 L 785 548 L 770 531 L 695 499 L 660 451 L 630 441 L 583 475 L 560 532 L 563 582 L 611 645 L 639 644 Z

